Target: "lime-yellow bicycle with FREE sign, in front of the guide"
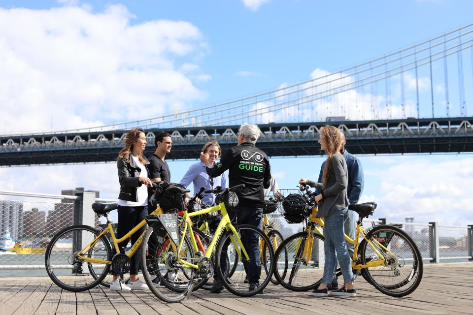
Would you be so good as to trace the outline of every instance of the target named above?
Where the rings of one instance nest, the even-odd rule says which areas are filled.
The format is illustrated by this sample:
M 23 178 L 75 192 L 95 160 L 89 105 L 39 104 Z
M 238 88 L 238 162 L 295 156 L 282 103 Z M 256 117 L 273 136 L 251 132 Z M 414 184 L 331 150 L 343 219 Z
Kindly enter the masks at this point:
M 148 216 L 149 228 L 142 245 L 148 255 L 142 254 L 141 262 L 146 266 L 143 277 L 156 296 L 169 303 L 179 302 L 189 296 L 196 282 L 210 279 L 214 272 L 223 286 L 238 296 L 252 296 L 266 287 L 274 268 L 270 240 L 255 226 L 237 221 L 234 226 L 227 213 L 227 207 L 237 205 L 235 191 L 243 188 L 244 185 L 238 185 L 230 189 L 206 190 L 205 193 L 215 193 L 217 205 L 194 212 L 184 211 L 182 224 L 172 213 Z M 218 210 L 222 219 L 206 251 L 199 251 L 191 218 Z M 264 261 L 261 261 L 258 248 L 260 240 L 266 244 Z M 262 265 L 266 265 L 264 269 Z M 253 283 L 245 283 L 247 273 Z M 168 281 L 169 274 L 172 282 Z M 160 279 L 161 285 L 151 285 L 154 279 Z

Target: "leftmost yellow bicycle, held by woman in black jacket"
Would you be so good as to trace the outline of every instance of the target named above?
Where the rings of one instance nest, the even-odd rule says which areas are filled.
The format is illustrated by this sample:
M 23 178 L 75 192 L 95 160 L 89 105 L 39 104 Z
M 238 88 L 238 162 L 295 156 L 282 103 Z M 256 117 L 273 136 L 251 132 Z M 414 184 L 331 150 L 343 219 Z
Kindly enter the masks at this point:
M 155 184 L 155 187 L 158 185 Z M 184 190 L 186 191 L 186 190 Z M 117 239 L 112 227 L 112 221 L 108 213 L 116 210 L 117 204 L 94 203 L 93 211 L 107 221 L 103 230 L 97 230 L 88 225 L 73 225 L 59 231 L 49 242 L 45 252 L 46 271 L 51 280 L 63 289 L 69 291 L 85 291 L 98 284 L 110 286 L 111 273 L 117 274 L 123 279 L 123 274 L 130 269 L 130 258 L 140 247 L 145 231 L 132 244 L 126 253 L 120 253 L 118 244 L 135 234 L 140 228 L 147 224 L 146 220 L 138 223 L 130 232 L 122 238 Z M 162 215 L 164 211 L 157 207 L 152 215 Z M 195 239 L 199 244 L 198 250 L 205 251 L 204 239 L 207 237 L 200 230 L 193 231 Z M 117 254 L 113 255 L 113 244 Z M 146 250 L 143 251 L 146 254 Z M 170 281 L 170 280 L 169 280 Z M 159 285 L 155 281 L 154 285 Z M 196 289 L 203 283 L 198 283 Z

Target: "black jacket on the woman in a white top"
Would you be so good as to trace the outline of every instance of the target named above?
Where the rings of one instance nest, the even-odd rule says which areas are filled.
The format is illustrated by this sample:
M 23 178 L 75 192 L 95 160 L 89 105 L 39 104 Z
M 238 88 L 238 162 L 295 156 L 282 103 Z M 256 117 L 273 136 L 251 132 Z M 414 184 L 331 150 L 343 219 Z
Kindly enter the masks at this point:
M 137 202 L 138 199 L 136 196 L 136 190 L 143 184 L 138 180 L 141 169 L 139 168 L 139 165 L 135 163 L 135 160 L 132 158 L 131 154 L 128 156 L 128 158 L 128 163 L 125 158 L 119 158 L 117 161 L 118 180 L 120 181 L 120 194 L 118 199 Z M 144 156 L 143 158 L 146 161 L 146 165 L 148 165 L 148 159 Z M 145 167 L 148 169 L 147 166 Z M 147 176 L 147 174 L 141 175 L 141 177 Z

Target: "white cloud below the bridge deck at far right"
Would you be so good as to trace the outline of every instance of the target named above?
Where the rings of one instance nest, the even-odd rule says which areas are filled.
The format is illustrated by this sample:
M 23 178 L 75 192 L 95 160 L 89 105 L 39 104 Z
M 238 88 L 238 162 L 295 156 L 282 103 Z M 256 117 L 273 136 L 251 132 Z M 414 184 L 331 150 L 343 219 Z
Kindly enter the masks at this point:
M 366 172 L 365 181 L 379 182 L 380 188 L 360 202 L 376 201 L 376 218 L 414 217 L 415 222 L 446 225 L 472 222 L 473 197 L 465 188 L 473 186 L 473 158 L 448 157 L 397 157 L 391 166 Z

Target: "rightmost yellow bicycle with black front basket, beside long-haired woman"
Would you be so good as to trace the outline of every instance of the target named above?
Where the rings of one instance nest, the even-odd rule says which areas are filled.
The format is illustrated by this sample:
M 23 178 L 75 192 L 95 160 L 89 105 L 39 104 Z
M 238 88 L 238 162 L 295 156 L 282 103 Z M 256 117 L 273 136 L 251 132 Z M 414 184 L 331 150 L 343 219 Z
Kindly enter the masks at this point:
M 288 237 L 275 253 L 274 276 L 294 291 L 317 287 L 322 281 L 325 262 L 324 219 L 316 217 L 314 194 L 305 186 L 301 190 L 305 192 L 284 196 L 283 207 L 292 213 L 291 218 L 297 218 L 298 213 L 300 218 L 306 218 L 304 231 Z M 345 240 L 355 246 L 352 269 L 382 293 L 405 296 L 422 280 L 422 256 L 412 238 L 397 226 L 373 225 L 366 230 L 362 227 L 363 218 L 371 216 L 375 208 L 375 202 L 348 207 L 359 215 L 355 239 L 345 235 Z M 339 269 L 337 275 L 341 275 Z

